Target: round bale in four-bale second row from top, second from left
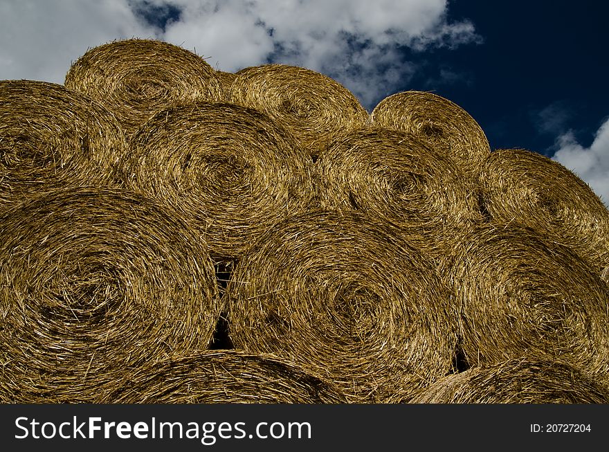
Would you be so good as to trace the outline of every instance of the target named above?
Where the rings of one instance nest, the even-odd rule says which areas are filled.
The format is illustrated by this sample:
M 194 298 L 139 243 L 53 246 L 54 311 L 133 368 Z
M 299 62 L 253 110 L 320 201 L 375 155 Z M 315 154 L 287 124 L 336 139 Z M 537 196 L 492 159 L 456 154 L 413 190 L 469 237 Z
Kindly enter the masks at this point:
M 192 219 L 218 258 L 309 205 L 307 154 L 254 109 L 202 103 L 167 109 L 130 143 L 127 185 Z

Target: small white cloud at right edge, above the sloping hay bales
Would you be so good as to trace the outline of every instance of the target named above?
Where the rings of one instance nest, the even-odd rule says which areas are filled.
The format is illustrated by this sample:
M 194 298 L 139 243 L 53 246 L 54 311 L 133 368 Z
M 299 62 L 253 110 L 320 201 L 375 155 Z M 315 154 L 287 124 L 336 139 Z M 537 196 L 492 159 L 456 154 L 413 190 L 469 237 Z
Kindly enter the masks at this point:
M 579 175 L 609 205 L 609 118 L 590 147 L 580 145 L 572 132 L 561 135 L 557 147 L 552 159 Z

